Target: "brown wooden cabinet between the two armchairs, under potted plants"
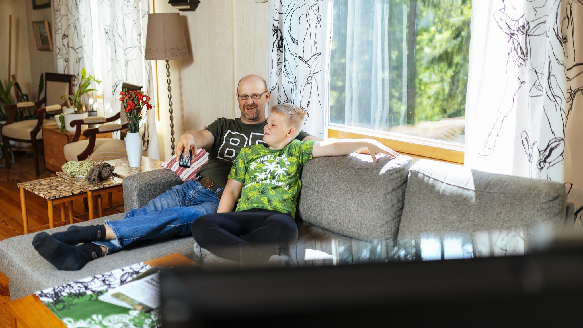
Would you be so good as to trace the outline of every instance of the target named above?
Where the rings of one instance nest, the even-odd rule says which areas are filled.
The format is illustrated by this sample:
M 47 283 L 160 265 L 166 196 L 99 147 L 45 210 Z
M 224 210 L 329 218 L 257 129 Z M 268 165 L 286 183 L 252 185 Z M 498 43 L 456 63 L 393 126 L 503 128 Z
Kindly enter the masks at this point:
M 74 135 L 75 132 L 61 131 L 61 128 L 55 127 L 55 125 L 43 127 L 44 165 L 47 170 L 51 172 L 61 171 L 61 167 L 67 162 L 63 147 L 73 139 Z M 97 134 L 97 138 L 111 138 L 111 135 L 111 132 L 100 133 Z M 83 137 L 83 132 L 81 132 L 79 140 L 84 139 L 87 138 Z

